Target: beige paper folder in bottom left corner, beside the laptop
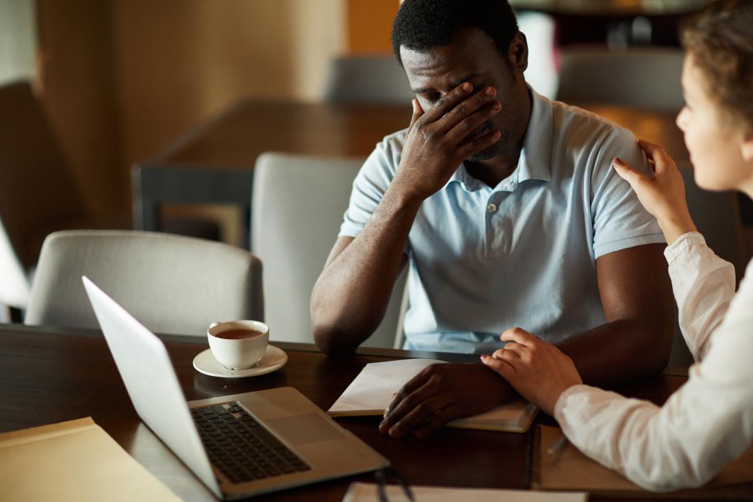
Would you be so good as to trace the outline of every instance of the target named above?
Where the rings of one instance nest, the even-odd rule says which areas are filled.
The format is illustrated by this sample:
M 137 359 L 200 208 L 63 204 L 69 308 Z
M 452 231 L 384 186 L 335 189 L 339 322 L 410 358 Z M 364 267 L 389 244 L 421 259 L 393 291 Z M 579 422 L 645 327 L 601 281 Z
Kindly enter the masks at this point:
M 0 434 L 5 502 L 132 502 L 180 498 L 91 418 Z

